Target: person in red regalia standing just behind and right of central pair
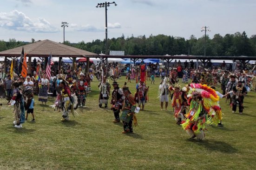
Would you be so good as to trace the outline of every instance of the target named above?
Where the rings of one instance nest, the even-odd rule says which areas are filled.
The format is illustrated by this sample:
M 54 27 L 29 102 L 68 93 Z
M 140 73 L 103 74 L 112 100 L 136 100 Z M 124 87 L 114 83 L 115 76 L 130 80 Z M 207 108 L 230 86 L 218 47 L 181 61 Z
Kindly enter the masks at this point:
M 146 104 L 147 100 L 147 91 L 148 88 L 144 84 L 144 81 L 140 80 L 139 83 L 136 85 L 137 89 L 137 102 L 138 102 L 138 107 L 140 108 L 140 105 L 142 104 L 142 110 L 144 110 L 144 106 Z

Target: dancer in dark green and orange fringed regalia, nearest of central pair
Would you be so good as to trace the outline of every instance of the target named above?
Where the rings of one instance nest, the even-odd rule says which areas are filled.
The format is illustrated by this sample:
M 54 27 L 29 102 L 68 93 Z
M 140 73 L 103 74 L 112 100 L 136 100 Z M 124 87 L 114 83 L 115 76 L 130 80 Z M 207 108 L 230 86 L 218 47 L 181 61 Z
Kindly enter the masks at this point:
M 137 118 L 135 115 L 136 103 L 134 101 L 134 97 L 129 91 L 129 87 L 124 86 L 123 92 L 125 96 L 124 105 L 122 108 L 122 114 L 120 116 L 120 120 L 123 121 L 123 134 L 132 133 L 132 121 L 134 121 L 134 125 L 137 125 Z

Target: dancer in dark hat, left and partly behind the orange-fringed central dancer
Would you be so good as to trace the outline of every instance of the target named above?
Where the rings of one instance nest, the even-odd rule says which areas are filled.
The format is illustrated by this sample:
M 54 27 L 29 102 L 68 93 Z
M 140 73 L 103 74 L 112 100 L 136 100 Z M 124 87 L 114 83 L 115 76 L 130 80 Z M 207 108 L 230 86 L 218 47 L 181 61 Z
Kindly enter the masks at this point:
M 119 88 L 118 82 L 114 81 L 112 85 L 114 90 L 112 91 L 111 109 L 113 110 L 115 117 L 112 122 L 117 123 L 120 122 L 119 113 L 120 109 L 122 109 L 122 103 L 125 99 L 125 96 L 123 90 Z

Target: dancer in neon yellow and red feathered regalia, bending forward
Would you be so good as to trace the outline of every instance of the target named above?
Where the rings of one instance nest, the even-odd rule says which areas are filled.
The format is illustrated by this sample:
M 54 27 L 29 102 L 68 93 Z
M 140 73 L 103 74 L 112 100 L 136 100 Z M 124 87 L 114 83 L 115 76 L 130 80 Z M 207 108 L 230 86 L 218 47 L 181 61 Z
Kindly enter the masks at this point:
M 182 127 L 190 135 L 190 139 L 197 137 L 197 140 L 203 140 L 205 123 L 217 125 L 222 119 L 217 103 L 219 97 L 215 90 L 202 84 L 190 84 L 188 97 L 190 111 L 185 115 L 187 120 L 182 121 Z

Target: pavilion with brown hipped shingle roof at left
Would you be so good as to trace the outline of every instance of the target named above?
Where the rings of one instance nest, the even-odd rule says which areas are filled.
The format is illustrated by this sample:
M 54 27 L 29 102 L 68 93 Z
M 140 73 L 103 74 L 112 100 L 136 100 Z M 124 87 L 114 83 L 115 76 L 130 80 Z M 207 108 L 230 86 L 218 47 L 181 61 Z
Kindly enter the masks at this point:
M 83 50 L 77 49 L 62 43 L 53 42 L 51 40 L 43 40 L 34 43 L 30 43 L 24 46 L 20 46 L 14 49 L 8 49 L 0 52 L 0 56 L 5 56 L 5 69 L 7 67 L 7 57 L 20 57 L 22 47 L 28 57 L 28 70 L 31 68 L 31 57 L 45 57 L 46 61 L 52 53 L 52 57 L 59 57 L 59 63 L 61 62 L 62 57 L 71 57 L 73 59 L 73 66 L 75 64 L 77 57 L 86 57 L 87 58 L 87 67 L 89 66 L 89 58 L 97 57 L 98 54 Z M 60 69 L 60 64 L 59 64 Z M 89 69 L 89 68 L 88 68 Z

